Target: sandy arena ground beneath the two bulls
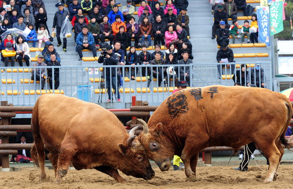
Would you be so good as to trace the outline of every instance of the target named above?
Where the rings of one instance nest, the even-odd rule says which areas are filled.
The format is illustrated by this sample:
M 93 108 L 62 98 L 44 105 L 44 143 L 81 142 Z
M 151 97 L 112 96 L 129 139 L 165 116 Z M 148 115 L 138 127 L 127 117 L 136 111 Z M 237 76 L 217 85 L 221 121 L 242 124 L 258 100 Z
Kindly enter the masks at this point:
M 272 183 L 264 183 L 267 171 L 256 166 L 247 172 L 236 171 L 233 167 L 199 167 L 196 182 L 185 182 L 184 171 L 161 172 L 154 168 L 155 179 L 146 181 L 132 176 L 121 175 L 127 183 L 117 183 L 112 177 L 94 169 L 69 170 L 60 184 L 54 184 L 54 171 L 46 170 L 48 181 L 39 182 L 39 170 L 22 168 L 21 171 L 0 172 L 1 189 L 192 189 L 192 188 L 293 188 L 293 165 L 281 165 L 278 179 Z M 267 166 L 260 166 L 267 169 Z

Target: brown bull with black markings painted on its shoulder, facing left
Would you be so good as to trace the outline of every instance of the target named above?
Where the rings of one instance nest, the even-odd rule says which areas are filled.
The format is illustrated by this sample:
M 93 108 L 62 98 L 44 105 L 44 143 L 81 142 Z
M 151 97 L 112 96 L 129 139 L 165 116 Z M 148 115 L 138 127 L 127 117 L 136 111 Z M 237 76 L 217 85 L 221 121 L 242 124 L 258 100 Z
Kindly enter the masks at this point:
M 265 181 L 276 179 L 284 154 L 292 105 L 284 95 L 263 88 L 213 85 L 180 90 L 151 115 L 139 140 L 162 171 L 181 156 L 187 180 L 195 180 L 198 153 L 206 147 L 238 149 L 252 141 L 270 161 Z M 146 123 L 145 123 L 146 124 Z

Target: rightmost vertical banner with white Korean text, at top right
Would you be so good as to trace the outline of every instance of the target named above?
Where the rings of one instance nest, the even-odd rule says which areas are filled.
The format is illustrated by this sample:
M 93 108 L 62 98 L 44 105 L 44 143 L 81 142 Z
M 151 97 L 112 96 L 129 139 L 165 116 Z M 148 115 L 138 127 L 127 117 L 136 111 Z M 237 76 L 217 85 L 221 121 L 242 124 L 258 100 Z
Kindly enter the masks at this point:
M 283 0 L 272 0 L 270 6 L 271 36 L 284 30 L 283 27 Z

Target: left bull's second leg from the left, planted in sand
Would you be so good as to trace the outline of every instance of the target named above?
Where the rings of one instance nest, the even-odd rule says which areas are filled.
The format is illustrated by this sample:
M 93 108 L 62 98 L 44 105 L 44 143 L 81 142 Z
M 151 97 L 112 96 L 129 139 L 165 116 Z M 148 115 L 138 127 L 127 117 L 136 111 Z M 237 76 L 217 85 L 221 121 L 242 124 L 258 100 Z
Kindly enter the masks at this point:
M 69 164 L 76 153 L 76 149 L 73 148 L 74 144 L 68 144 L 66 146 L 61 145 L 61 151 L 58 159 L 57 176 L 54 182 L 59 183 L 67 174 Z

